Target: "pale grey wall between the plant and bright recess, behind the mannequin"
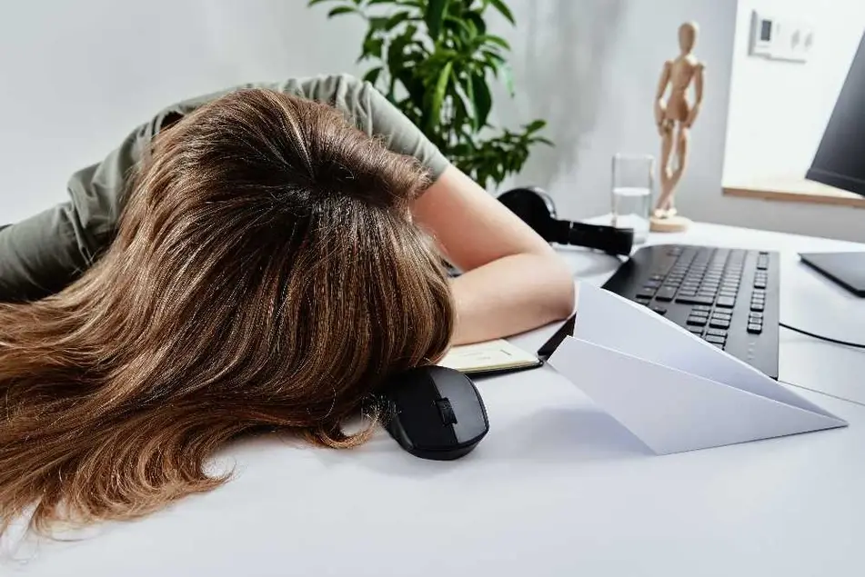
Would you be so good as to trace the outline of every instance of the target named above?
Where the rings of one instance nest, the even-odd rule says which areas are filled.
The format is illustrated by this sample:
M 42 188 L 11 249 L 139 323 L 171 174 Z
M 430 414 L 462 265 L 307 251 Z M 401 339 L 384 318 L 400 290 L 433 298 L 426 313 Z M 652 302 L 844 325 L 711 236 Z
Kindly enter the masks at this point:
M 518 29 L 498 29 L 513 41 L 520 94 L 512 102 L 499 96 L 498 116 L 545 117 L 557 144 L 538 149 L 515 182 L 547 188 L 559 214 L 571 218 L 609 212 L 613 154 L 659 156 L 652 105 L 661 68 L 679 55 L 679 25 L 699 23 L 705 104 L 677 204 L 695 218 L 715 220 L 704 206 L 709 197 L 720 200 L 735 0 L 525 0 L 514 6 Z

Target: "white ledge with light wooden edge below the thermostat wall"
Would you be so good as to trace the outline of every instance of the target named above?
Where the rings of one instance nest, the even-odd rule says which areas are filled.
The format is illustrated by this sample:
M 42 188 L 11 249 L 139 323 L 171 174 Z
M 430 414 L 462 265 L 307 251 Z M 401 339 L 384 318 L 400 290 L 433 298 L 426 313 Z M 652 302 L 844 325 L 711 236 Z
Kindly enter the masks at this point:
M 723 191 L 725 196 L 781 203 L 832 204 L 865 208 L 865 196 L 804 178 L 772 178 L 750 183 L 725 184 Z

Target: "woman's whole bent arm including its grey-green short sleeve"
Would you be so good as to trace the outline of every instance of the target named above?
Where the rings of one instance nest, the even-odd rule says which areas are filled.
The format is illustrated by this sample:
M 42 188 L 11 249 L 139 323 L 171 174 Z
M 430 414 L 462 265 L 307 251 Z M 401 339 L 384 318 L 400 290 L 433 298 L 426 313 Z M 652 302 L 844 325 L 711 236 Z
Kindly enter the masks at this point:
M 348 76 L 326 81 L 337 85 L 326 92 L 347 95 L 348 110 L 357 104 L 369 134 L 397 153 L 413 155 L 432 174 L 433 184 L 412 213 L 463 272 L 453 281 L 458 315 L 453 343 L 521 333 L 573 312 L 573 278 L 538 234 L 450 164 L 372 85 Z

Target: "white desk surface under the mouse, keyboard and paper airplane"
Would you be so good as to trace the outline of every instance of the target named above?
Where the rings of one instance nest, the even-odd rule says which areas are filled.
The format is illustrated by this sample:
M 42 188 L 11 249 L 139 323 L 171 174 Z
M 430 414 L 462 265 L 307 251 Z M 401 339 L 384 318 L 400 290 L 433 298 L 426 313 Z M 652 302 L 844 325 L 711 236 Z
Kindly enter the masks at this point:
M 718 226 L 659 240 L 855 247 Z M 568 260 L 595 284 L 615 268 L 599 254 Z M 792 255 L 782 274 L 785 321 L 865 340 L 865 302 Z M 518 343 L 537 348 L 552 332 Z M 865 402 L 865 353 L 785 332 L 780 363 L 784 380 Z M 347 453 L 260 439 L 232 447 L 238 475 L 216 492 L 85 542 L 42 544 L 0 574 L 865 573 L 865 406 L 804 392 L 850 427 L 657 457 L 548 367 L 478 387 L 491 430 L 458 462 L 418 460 L 386 433 Z

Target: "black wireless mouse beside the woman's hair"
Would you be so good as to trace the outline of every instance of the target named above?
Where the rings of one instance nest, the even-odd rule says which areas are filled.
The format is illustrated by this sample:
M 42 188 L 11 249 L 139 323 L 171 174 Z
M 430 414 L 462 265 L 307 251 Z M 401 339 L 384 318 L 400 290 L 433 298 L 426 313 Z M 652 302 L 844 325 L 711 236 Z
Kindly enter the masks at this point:
M 421 459 L 458 459 L 489 431 L 487 408 L 475 383 L 453 369 L 410 369 L 392 378 L 381 396 L 387 432 Z

